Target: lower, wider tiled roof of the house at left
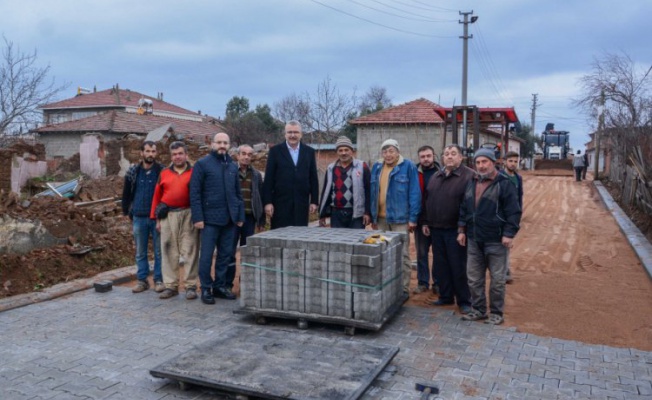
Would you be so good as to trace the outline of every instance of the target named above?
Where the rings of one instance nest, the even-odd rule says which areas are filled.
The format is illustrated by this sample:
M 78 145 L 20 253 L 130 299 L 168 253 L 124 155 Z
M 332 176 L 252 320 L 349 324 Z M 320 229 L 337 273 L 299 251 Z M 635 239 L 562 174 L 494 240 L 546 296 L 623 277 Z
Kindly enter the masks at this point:
M 31 132 L 48 134 L 54 132 L 110 132 L 110 133 L 135 133 L 147 135 L 149 132 L 163 125 L 171 124 L 176 134 L 190 136 L 212 136 L 224 132 L 220 124 L 209 122 L 189 121 L 184 119 L 163 117 L 158 115 L 138 115 L 125 111 L 109 111 L 74 121 L 63 122 L 55 125 L 46 125 Z

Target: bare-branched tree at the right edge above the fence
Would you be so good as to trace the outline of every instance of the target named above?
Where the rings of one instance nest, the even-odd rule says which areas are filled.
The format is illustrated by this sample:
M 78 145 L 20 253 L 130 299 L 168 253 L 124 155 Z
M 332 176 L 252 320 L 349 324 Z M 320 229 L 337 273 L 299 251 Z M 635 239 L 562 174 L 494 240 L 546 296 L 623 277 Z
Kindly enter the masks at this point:
M 651 71 L 652 67 L 638 67 L 627 54 L 607 53 L 594 59 L 592 72 L 580 79 L 583 94 L 575 105 L 591 121 L 597 121 L 599 110 L 603 110 L 603 132 L 620 162 L 625 162 L 640 139 L 650 134 Z

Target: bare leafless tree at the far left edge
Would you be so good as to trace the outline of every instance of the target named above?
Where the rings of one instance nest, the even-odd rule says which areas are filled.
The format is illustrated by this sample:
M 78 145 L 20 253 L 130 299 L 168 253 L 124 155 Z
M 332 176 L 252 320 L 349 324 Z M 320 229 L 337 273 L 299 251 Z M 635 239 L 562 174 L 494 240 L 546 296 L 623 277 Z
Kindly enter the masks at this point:
M 37 53 L 21 53 L 2 37 L 0 59 L 0 133 L 15 133 L 35 126 L 41 119 L 37 107 L 54 100 L 68 85 L 57 86 L 48 78 L 50 65 L 38 67 Z

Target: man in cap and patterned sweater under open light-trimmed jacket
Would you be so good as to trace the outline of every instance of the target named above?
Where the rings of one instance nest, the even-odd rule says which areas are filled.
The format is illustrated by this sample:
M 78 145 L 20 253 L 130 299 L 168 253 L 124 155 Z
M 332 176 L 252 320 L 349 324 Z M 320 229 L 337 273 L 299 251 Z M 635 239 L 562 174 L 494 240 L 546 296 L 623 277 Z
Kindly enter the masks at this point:
M 371 221 L 369 212 L 369 167 L 353 157 L 353 143 L 346 136 L 335 142 L 337 161 L 330 163 L 324 176 L 319 204 L 319 225 L 331 228 L 364 229 Z

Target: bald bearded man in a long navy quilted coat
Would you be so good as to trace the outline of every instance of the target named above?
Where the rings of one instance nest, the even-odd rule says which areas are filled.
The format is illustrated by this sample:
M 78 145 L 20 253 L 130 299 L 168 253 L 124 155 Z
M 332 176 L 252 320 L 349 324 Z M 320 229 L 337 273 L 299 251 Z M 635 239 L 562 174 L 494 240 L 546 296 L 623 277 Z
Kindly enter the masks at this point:
M 190 178 L 192 222 L 196 229 L 201 229 L 199 282 L 204 304 L 215 304 L 215 297 L 235 300 L 232 282 L 228 282 L 228 266 L 235 250 L 234 226 L 242 226 L 244 206 L 238 166 L 227 154 L 229 144 L 226 133 L 215 135 L 213 151 L 195 163 Z M 211 264 L 216 247 L 213 279 Z

